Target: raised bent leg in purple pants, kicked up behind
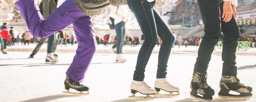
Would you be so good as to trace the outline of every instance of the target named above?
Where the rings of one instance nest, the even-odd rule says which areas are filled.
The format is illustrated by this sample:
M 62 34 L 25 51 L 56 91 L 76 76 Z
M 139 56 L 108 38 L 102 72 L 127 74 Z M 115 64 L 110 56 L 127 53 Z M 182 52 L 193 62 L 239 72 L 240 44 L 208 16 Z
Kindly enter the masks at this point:
M 82 16 L 73 0 L 63 2 L 47 19 L 44 19 L 35 0 L 19 0 L 15 3 L 29 31 L 35 38 L 44 38 L 58 32 Z M 76 15 L 67 15 L 76 12 Z

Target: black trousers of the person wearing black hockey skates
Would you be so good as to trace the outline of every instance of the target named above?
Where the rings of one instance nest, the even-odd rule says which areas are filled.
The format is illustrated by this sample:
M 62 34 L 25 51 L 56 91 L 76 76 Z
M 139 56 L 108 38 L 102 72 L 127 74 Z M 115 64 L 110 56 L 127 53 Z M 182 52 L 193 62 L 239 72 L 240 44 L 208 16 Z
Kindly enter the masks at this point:
M 236 49 L 240 34 L 234 15 L 229 22 L 224 22 L 222 18 L 223 3 L 219 4 L 219 0 L 198 0 L 198 5 L 205 25 L 205 34 L 198 50 L 194 71 L 200 73 L 207 71 L 211 54 L 221 37 L 221 32 L 223 32 L 222 75 L 236 76 Z

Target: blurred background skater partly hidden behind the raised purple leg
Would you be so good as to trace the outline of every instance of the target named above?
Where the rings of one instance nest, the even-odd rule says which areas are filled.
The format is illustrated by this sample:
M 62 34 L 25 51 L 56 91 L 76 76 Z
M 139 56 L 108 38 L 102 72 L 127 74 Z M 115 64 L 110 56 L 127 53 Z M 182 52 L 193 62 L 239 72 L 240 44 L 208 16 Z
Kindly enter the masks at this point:
M 48 2 L 43 0 L 40 5 L 40 13 L 43 15 L 43 17 L 47 18 L 52 12 L 54 12 L 54 10 L 56 10 L 57 8 L 57 1 L 58 0 L 51 0 L 51 2 Z M 48 11 L 49 9 L 46 8 L 51 8 L 50 12 Z M 44 13 L 46 12 L 46 13 Z M 49 13 L 48 13 L 49 12 Z M 41 38 L 37 44 L 37 46 L 34 48 L 33 52 L 30 54 L 29 58 L 33 58 L 34 55 L 40 50 L 41 46 L 44 44 L 44 42 L 46 41 L 47 37 L 45 38 Z M 46 58 L 45 58 L 45 62 L 49 63 L 49 64 L 55 64 L 58 63 L 58 59 L 54 56 L 54 52 L 56 50 L 56 33 L 52 34 L 49 36 L 49 40 L 48 40 L 48 44 L 47 44 L 47 54 L 46 54 Z

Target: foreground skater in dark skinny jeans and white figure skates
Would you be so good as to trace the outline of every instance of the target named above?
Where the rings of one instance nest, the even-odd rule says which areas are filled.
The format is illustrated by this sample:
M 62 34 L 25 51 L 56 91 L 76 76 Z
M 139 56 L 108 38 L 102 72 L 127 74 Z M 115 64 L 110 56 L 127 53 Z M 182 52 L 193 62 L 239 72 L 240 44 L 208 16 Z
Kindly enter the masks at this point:
M 161 0 L 157 1 L 162 2 Z M 131 97 L 134 97 L 136 92 L 145 94 L 148 97 L 148 95 L 155 95 L 156 91 L 160 91 L 160 89 L 168 92 L 178 92 L 179 88 L 169 84 L 166 80 L 167 63 L 174 42 L 174 36 L 156 8 L 153 7 L 156 2 L 154 0 L 127 0 L 127 3 L 144 35 L 144 43 L 138 54 L 136 70 L 134 71 L 131 83 L 131 93 L 133 94 Z M 152 50 L 157 43 L 157 34 L 163 43 L 158 55 L 155 90 L 144 82 L 144 72 Z

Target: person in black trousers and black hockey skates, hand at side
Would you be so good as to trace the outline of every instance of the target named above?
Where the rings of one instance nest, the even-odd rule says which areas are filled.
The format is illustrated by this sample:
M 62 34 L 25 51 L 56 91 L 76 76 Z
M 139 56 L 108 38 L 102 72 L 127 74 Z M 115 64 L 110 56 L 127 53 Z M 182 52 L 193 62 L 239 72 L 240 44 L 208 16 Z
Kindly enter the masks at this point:
M 249 98 L 252 97 L 252 87 L 245 86 L 237 79 L 236 49 L 240 38 L 239 27 L 236 21 L 237 0 L 198 0 L 199 9 L 204 23 L 205 34 L 202 38 L 198 57 L 191 80 L 191 97 L 211 101 L 214 90 L 207 84 L 207 68 L 211 54 L 223 32 L 222 79 L 219 87 L 219 97 Z M 209 6 L 208 6 L 209 5 Z M 231 95 L 228 92 L 236 91 L 240 95 Z M 197 95 L 201 94 L 203 97 Z

